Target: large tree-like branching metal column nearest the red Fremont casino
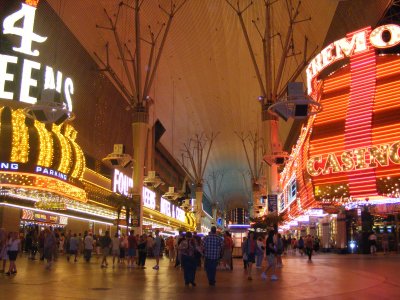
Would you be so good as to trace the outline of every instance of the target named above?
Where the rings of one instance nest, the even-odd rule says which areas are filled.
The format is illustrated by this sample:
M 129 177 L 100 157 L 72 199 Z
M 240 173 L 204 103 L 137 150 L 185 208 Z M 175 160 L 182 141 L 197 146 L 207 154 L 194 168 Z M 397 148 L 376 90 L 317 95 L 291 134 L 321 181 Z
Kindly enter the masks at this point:
M 274 32 L 272 28 L 272 24 L 274 24 L 272 20 L 272 6 L 278 0 L 264 0 L 265 4 L 265 20 L 264 20 L 264 30 L 260 30 L 259 21 L 252 20 L 254 24 L 260 40 L 262 42 L 263 49 L 263 63 L 262 68 L 257 63 L 256 55 L 254 52 L 254 48 L 251 44 L 250 37 L 248 34 L 248 29 L 245 26 L 245 22 L 243 19 L 243 13 L 247 11 L 252 5 L 253 1 L 249 1 L 244 8 L 240 7 L 239 1 L 236 2 L 236 6 L 233 4 L 231 0 L 225 0 L 227 4 L 236 12 L 240 26 L 243 31 L 243 35 L 246 41 L 246 45 L 249 50 L 250 58 L 254 67 L 254 71 L 256 73 L 256 78 L 260 87 L 260 96 L 259 101 L 261 103 L 261 120 L 262 120 L 262 129 L 263 129 L 263 138 L 266 143 L 266 152 L 265 156 L 279 156 L 282 152 L 282 144 L 279 139 L 279 128 L 278 128 L 278 118 L 275 115 L 272 115 L 268 108 L 273 105 L 277 100 L 281 99 L 282 96 L 286 93 L 287 84 L 291 81 L 294 81 L 306 67 L 307 63 L 313 56 L 314 52 L 307 56 L 307 37 L 305 37 L 304 43 L 304 52 L 303 59 L 301 62 L 297 63 L 297 67 L 294 70 L 285 70 L 285 67 L 288 65 L 288 60 L 290 58 L 296 59 L 296 56 L 300 53 L 295 52 L 294 38 L 293 38 L 293 29 L 294 25 L 300 22 L 304 22 L 308 19 L 298 20 L 299 18 L 299 9 L 301 6 L 301 0 L 296 1 L 297 5 L 294 5 L 292 0 L 285 0 L 286 2 L 286 10 L 289 16 L 288 28 L 286 35 L 283 36 L 279 32 Z M 280 57 L 274 57 L 273 53 L 277 52 L 276 47 L 273 46 L 274 39 L 279 39 L 281 44 L 281 55 Z M 296 59 L 297 62 L 297 59 Z M 277 68 L 275 64 L 277 63 Z M 264 78 L 262 75 L 262 70 L 264 72 Z M 287 76 L 283 76 L 284 73 Z M 267 176 L 267 191 L 270 195 L 277 195 L 279 191 L 278 186 L 278 166 L 279 163 L 273 161 L 272 163 L 268 161 L 268 176 Z M 252 176 L 253 177 L 253 176 Z

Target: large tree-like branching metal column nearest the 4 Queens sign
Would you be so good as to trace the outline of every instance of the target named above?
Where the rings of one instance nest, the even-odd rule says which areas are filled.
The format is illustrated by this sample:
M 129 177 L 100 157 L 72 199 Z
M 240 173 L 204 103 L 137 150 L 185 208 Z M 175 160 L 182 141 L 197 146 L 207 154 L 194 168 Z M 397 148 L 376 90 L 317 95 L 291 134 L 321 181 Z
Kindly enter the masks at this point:
M 106 60 L 100 58 L 97 53 L 94 53 L 100 62 L 103 71 L 109 75 L 109 77 L 114 81 L 115 85 L 120 90 L 122 96 L 128 103 L 129 109 L 132 110 L 132 134 L 133 134 L 133 158 L 134 158 L 134 168 L 133 168 L 133 194 L 139 195 L 141 198 L 141 209 L 140 209 L 140 228 L 142 231 L 143 224 L 143 199 L 142 188 L 146 161 L 152 162 L 152 157 L 147 157 L 153 155 L 153 139 L 149 138 L 149 134 L 153 134 L 149 130 L 149 108 L 152 104 L 152 99 L 149 95 L 150 89 L 152 87 L 155 74 L 160 62 L 161 54 L 163 52 L 165 42 L 168 33 L 171 28 L 173 17 L 176 13 L 183 7 L 187 0 L 180 1 L 177 5 L 175 1 L 170 2 L 169 9 L 163 8 L 161 5 L 159 8 L 168 17 L 166 23 L 163 23 L 161 28 L 157 33 L 154 33 L 150 26 L 149 36 L 150 40 L 143 38 L 141 33 L 141 20 L 140 20 L 140 9 L 145 0 L 134 0 L 133 5 L 127 4 L 125 2 L 120 2 L 118 6 L 117 13 L 115 14 L 114 20 L 110 17 L 106 10 L 104 10 L 106 17 L 108 19 L 108 26 L 99 26 L 97 28 L 110 30 L 113 33 L 114 41 L 117 46 L 117 51 L 119 55 L 119 60 L 122 63 L 123 72 L 122 76 L 125 79 L 122 80 L 114 69 L 110 65 L 109 61 L 109 43 L 106 44 Z M 133 10 L 134 13 L 134 49 L 131 49 L 128 42 L 123 43 L 118 32 L 118 20 L 120 19 L 121 10 L 127 8 Z M 158 45 L 158 40 L 161 38 L 161 42 Z M 142 41 L 145 41 L 150 45 L 149 60 L 145 72 L 142 72 Z M 158 49 L 157 49 L 158 48 Z M 148 142 L 150 141 L 150 143 Z M 147 160 L 146 160 L 147 158 Z M 151 164 L 151 163 L 150 163 Z

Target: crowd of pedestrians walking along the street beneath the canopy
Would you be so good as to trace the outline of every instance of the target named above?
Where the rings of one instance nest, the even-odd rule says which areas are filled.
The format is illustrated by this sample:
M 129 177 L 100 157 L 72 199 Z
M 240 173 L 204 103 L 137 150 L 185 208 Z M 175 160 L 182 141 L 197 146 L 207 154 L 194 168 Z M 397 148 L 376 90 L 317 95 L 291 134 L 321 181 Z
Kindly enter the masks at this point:
M 301 255 L 307 254 L 311 261 L 312 253 L 317 239 L 310 235 L 299 241 L 281 236 L 274 230 L 270 230 L 264 238 L 255 238 L 255 232 L 250 231 L 248 237 L 242 243 L 242 256 L 247 279 L 252 280 L 253 264 L 256 269 L 262 268 L 265 258 L 267 266 L 261 273 L 261 278 L 272 281 L 278 280 L 277 268 L 282 267 L 282 255 L 295 254 L 299 249 Z M 39 231 L 38 227 L 32 228 L 26 236 L 18 232 L 6 233 L 0 229 L 0 258 L 2 269 L 6 275 L 17 273 L 16 259 L 22 251 L 28 254 L 28 258 L 46 261 L 46 269 L 53 267 L 54 261 L 60 254 L 66 257 L 68 262 L 76 263 L 82 257 L 89 263 L 93 255 L 101 259 L 101 268 L 112 267 L 146 268 L 148 256 L 154 257 L 154 270 L 159 270 L 160 257 L 165 253 L 176 268 L 183 269 L 183 279 L 186 286 L 196 286 L 196 271 L 203 267 L 206 271 L 210 286 L 216 284 L 217 269 L 233 270 L 232 254 L 234 241 L 229 232 L 223 236 L 217 234 L 216 227 L 212 227 L 210 233 L 201 237 L 196 232 L 180 232 L 179 235 L 169 236 L 164 239 L 158 230 L 153 235 L 135 235 L 131 230 L 128 234 L 116 233 L 111 237 L 109 231 L 104 235 L 96 236 L 90 231 L 81 233 L 66 233 L 57 229 L 45 228 Z M 110 260 L 111 259 L 111 260 Z M 8 270 L 6 264 L 9 261 Z M 203 266 L 202 266 L 203 265 Z

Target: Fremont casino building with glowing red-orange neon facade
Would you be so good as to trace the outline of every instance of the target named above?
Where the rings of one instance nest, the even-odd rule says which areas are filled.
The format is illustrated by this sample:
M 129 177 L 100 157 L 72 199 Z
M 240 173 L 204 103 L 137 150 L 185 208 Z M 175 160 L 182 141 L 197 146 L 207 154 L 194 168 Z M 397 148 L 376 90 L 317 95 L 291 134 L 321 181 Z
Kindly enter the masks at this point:
M 281 173 L 278 208 L 285 229 L 309 227 L 313 216 L 324 247 L 347 247 L 357 216 L 365 224 L 370 208 L 400 202 L 399 33 L 398 25 L 360 29 L 306 70 L 308 93 L 323 110 L 303 126 Z

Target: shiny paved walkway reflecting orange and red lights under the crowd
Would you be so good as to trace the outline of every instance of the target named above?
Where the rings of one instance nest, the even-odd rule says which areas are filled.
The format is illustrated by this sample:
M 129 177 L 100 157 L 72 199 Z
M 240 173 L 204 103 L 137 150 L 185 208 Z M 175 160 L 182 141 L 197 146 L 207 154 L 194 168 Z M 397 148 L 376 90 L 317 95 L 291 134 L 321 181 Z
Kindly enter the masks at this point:
M 215 287 L 208 286 L 203 270 L 197 287 L 185 287 L 182 271 L 167 259 L 159 271 L 153 265 L 149 259 L 146 270 L 101 269 L 96 258 L 86 264 L 61 257 L 46 271 L 43 262 L 19 257 L 16 276 L 0 274 L 0 299 L 400 299 L 400 256 L 394 254 L 319 254 L 313 263 L 287 257 L 276 282 L 262 281 L 260 270 L 248 281 L 237 259 L 233 272 L 218 271 Z

